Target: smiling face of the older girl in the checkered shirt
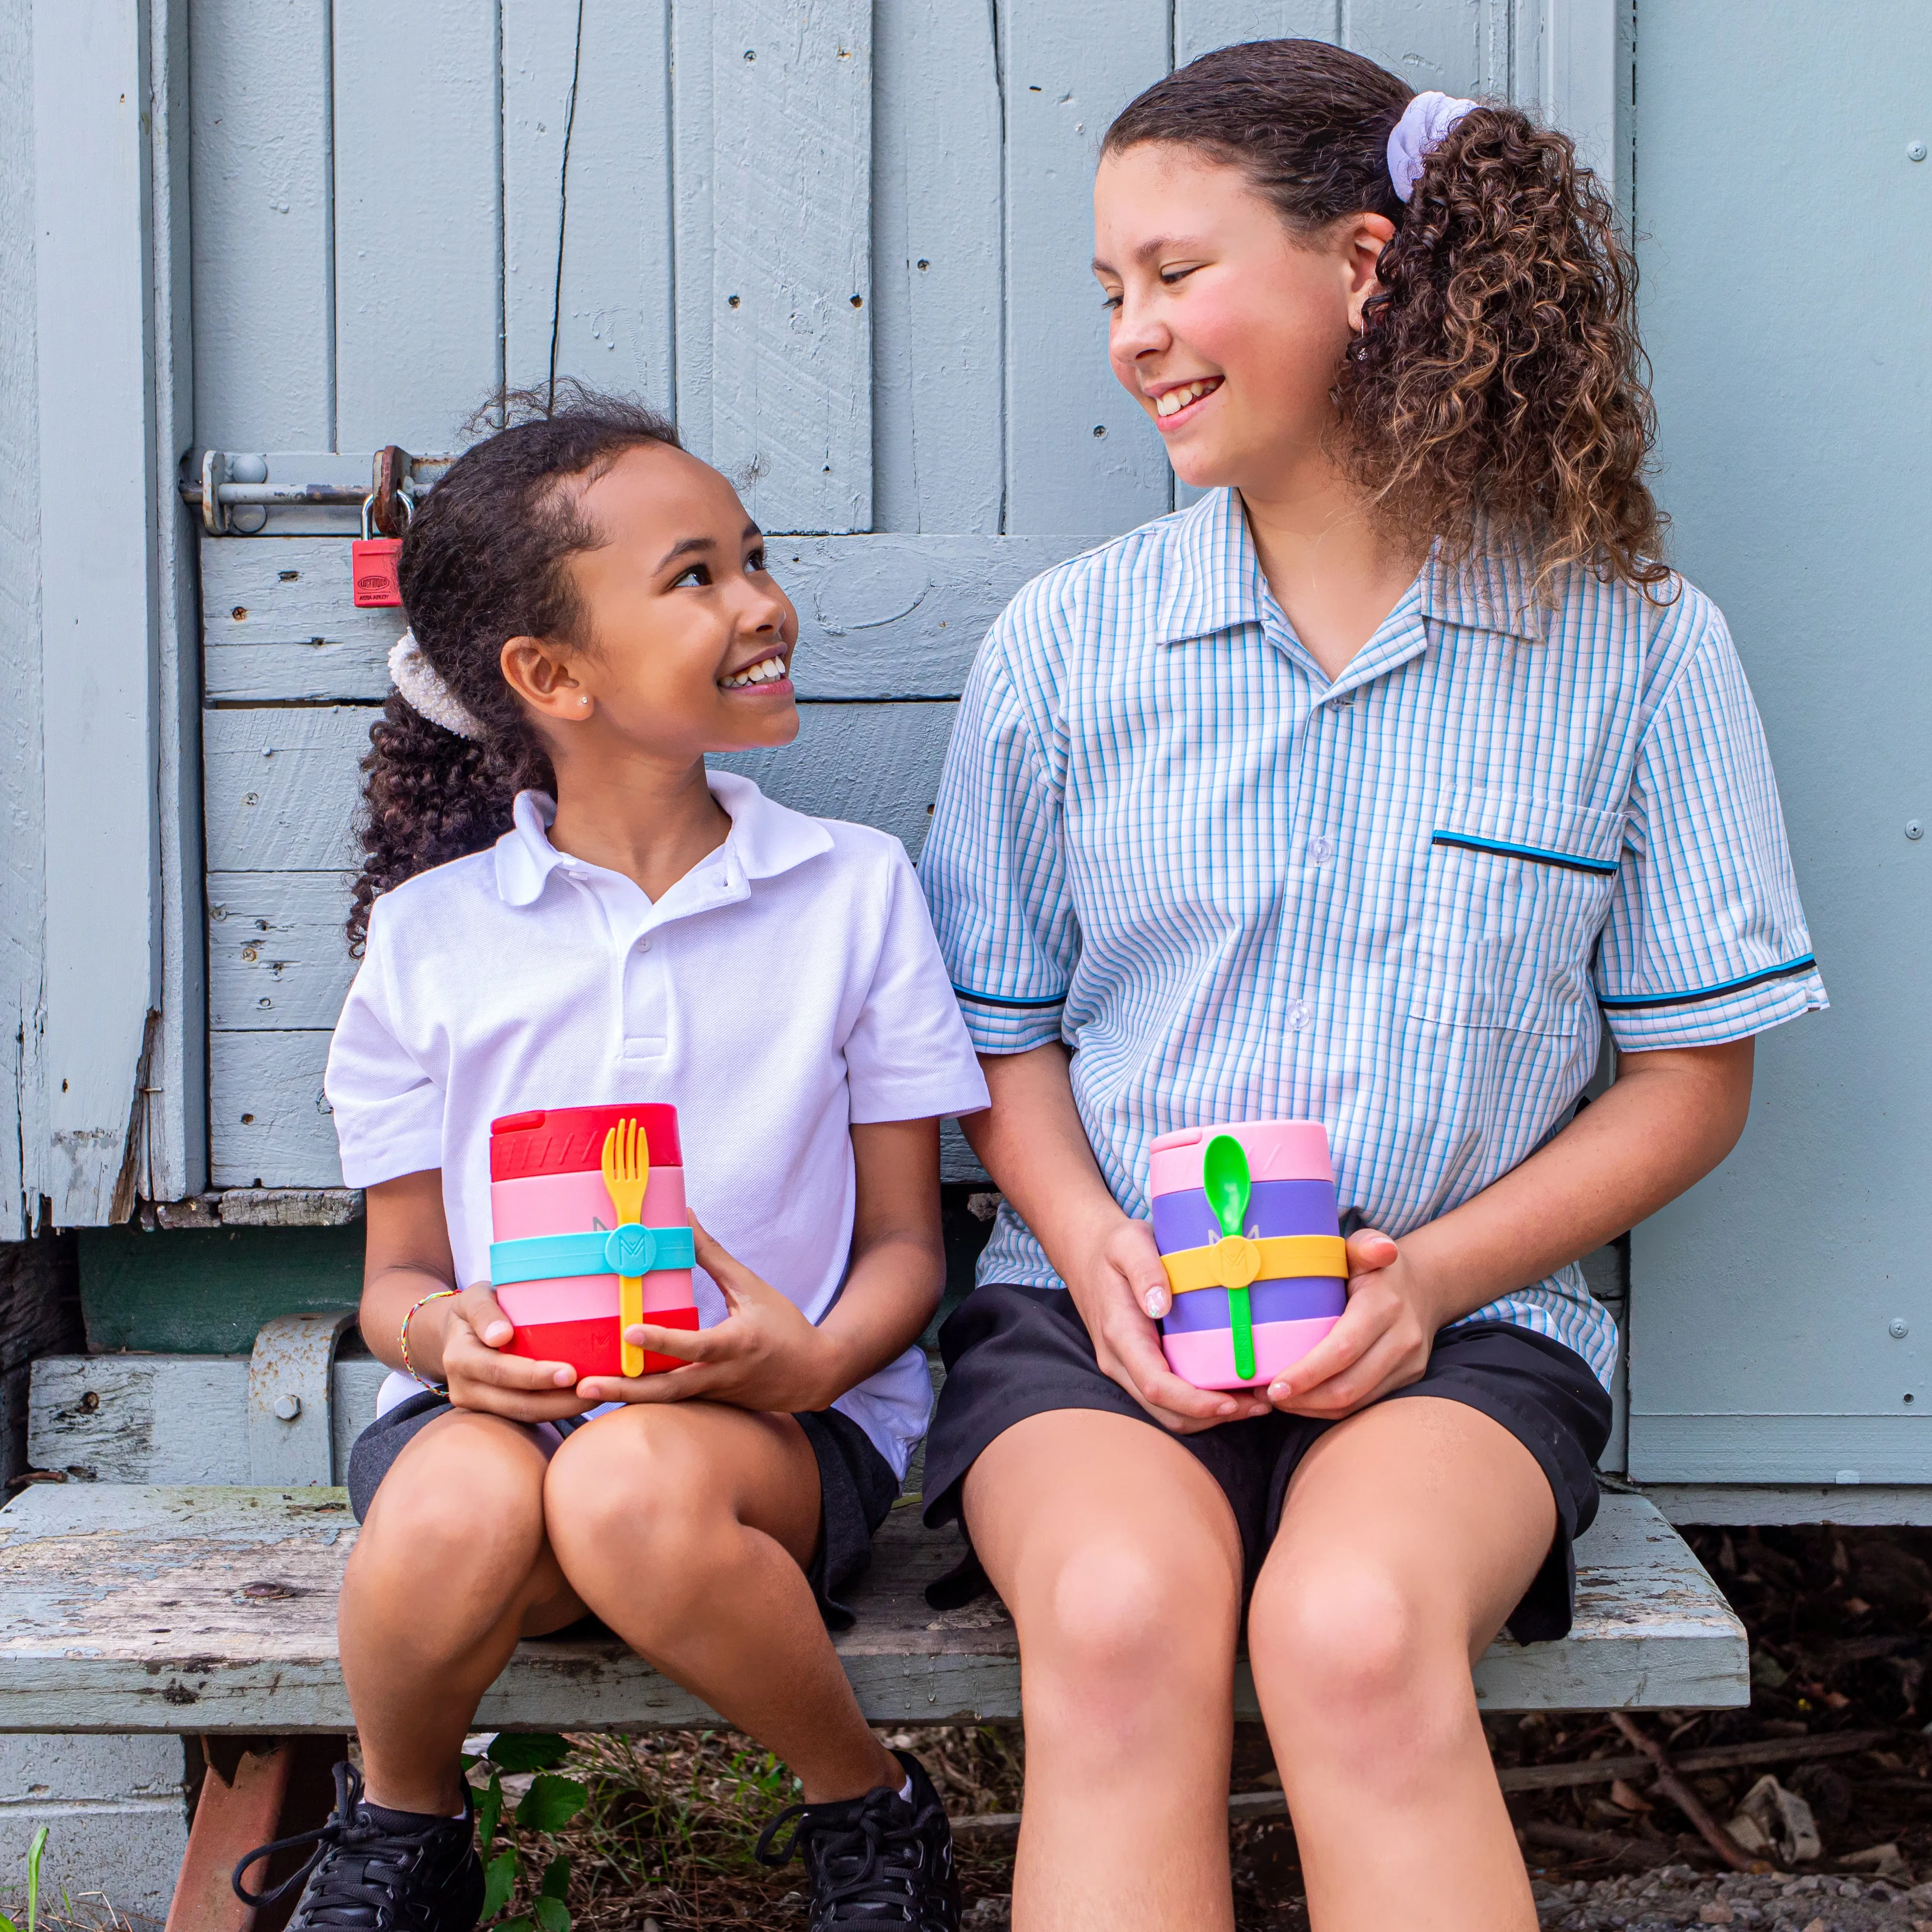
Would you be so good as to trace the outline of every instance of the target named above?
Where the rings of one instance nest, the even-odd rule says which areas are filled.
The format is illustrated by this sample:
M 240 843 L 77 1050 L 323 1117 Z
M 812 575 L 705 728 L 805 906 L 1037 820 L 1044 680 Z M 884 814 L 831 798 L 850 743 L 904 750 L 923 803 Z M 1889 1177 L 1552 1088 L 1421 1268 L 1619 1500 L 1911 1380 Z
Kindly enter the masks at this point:
M 1184 483 L 1265 497 L 1327 469 L 1335 371 L 1393 234 L 1381 214 L 1354 214 L 1296 236 L 1238 168 L 1196 149 L 1103 156 L 1094 274 L 1107 354 Z

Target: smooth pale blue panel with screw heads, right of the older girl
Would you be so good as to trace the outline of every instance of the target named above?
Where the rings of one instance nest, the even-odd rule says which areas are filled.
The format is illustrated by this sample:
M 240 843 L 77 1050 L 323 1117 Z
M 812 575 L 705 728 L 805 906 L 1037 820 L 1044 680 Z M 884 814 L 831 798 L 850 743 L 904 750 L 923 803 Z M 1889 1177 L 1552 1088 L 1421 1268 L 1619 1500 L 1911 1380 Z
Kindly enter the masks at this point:
M 1675 556 L 1729 616 L 1832 1010 L 1636 1231 L 1631 1472 L 1932 1480 L 1932 10 L 1644 8 L 1636 226 Z

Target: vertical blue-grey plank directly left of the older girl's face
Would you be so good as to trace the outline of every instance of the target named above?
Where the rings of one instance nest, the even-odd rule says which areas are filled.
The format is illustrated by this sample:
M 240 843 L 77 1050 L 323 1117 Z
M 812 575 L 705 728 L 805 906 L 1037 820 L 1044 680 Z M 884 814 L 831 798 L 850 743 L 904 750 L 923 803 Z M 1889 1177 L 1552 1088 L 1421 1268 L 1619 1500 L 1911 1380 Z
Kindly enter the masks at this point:
M 1007 529 L 1103 529 L 1163 516 L 1173 471 L 1107 367 L 1094 162 L 1115 114 L 1167 71 L 1167 0 L 1003 8 L 1007 77 Z

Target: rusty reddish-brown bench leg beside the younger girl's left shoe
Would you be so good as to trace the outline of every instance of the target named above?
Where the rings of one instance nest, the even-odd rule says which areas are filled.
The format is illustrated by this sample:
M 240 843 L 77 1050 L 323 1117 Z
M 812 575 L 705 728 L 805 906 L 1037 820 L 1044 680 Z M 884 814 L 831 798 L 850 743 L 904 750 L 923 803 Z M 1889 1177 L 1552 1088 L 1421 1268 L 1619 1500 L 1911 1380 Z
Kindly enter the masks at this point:
M 203 1737 L 207 1760 L 195 1818 L 187 1828 L 182 1876 L 174 1884 L 166 1932 L 278 1932 L 296 1893 L 255 1911 L 230 1884 L 236 1864 L 257 1845 L 319 1826 L 334 1804 L 330 1768 L 348 1756 L 346 1737 Z M 292 1872 L 303 1853 L 282 1853 L 247 1874 L 263 1891 Z

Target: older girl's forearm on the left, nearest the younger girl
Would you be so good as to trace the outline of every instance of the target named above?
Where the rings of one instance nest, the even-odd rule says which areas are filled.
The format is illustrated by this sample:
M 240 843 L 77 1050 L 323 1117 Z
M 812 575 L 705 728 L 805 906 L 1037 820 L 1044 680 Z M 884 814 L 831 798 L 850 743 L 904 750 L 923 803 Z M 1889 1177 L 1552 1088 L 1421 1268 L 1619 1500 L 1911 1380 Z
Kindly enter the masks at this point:
M 960 1121 L 980 1165 L 1065 1277 L 1095 1229 L 1122 1219 L 1074 1105 L 1066 1049 L 981 1053 L 993 1105 Z

